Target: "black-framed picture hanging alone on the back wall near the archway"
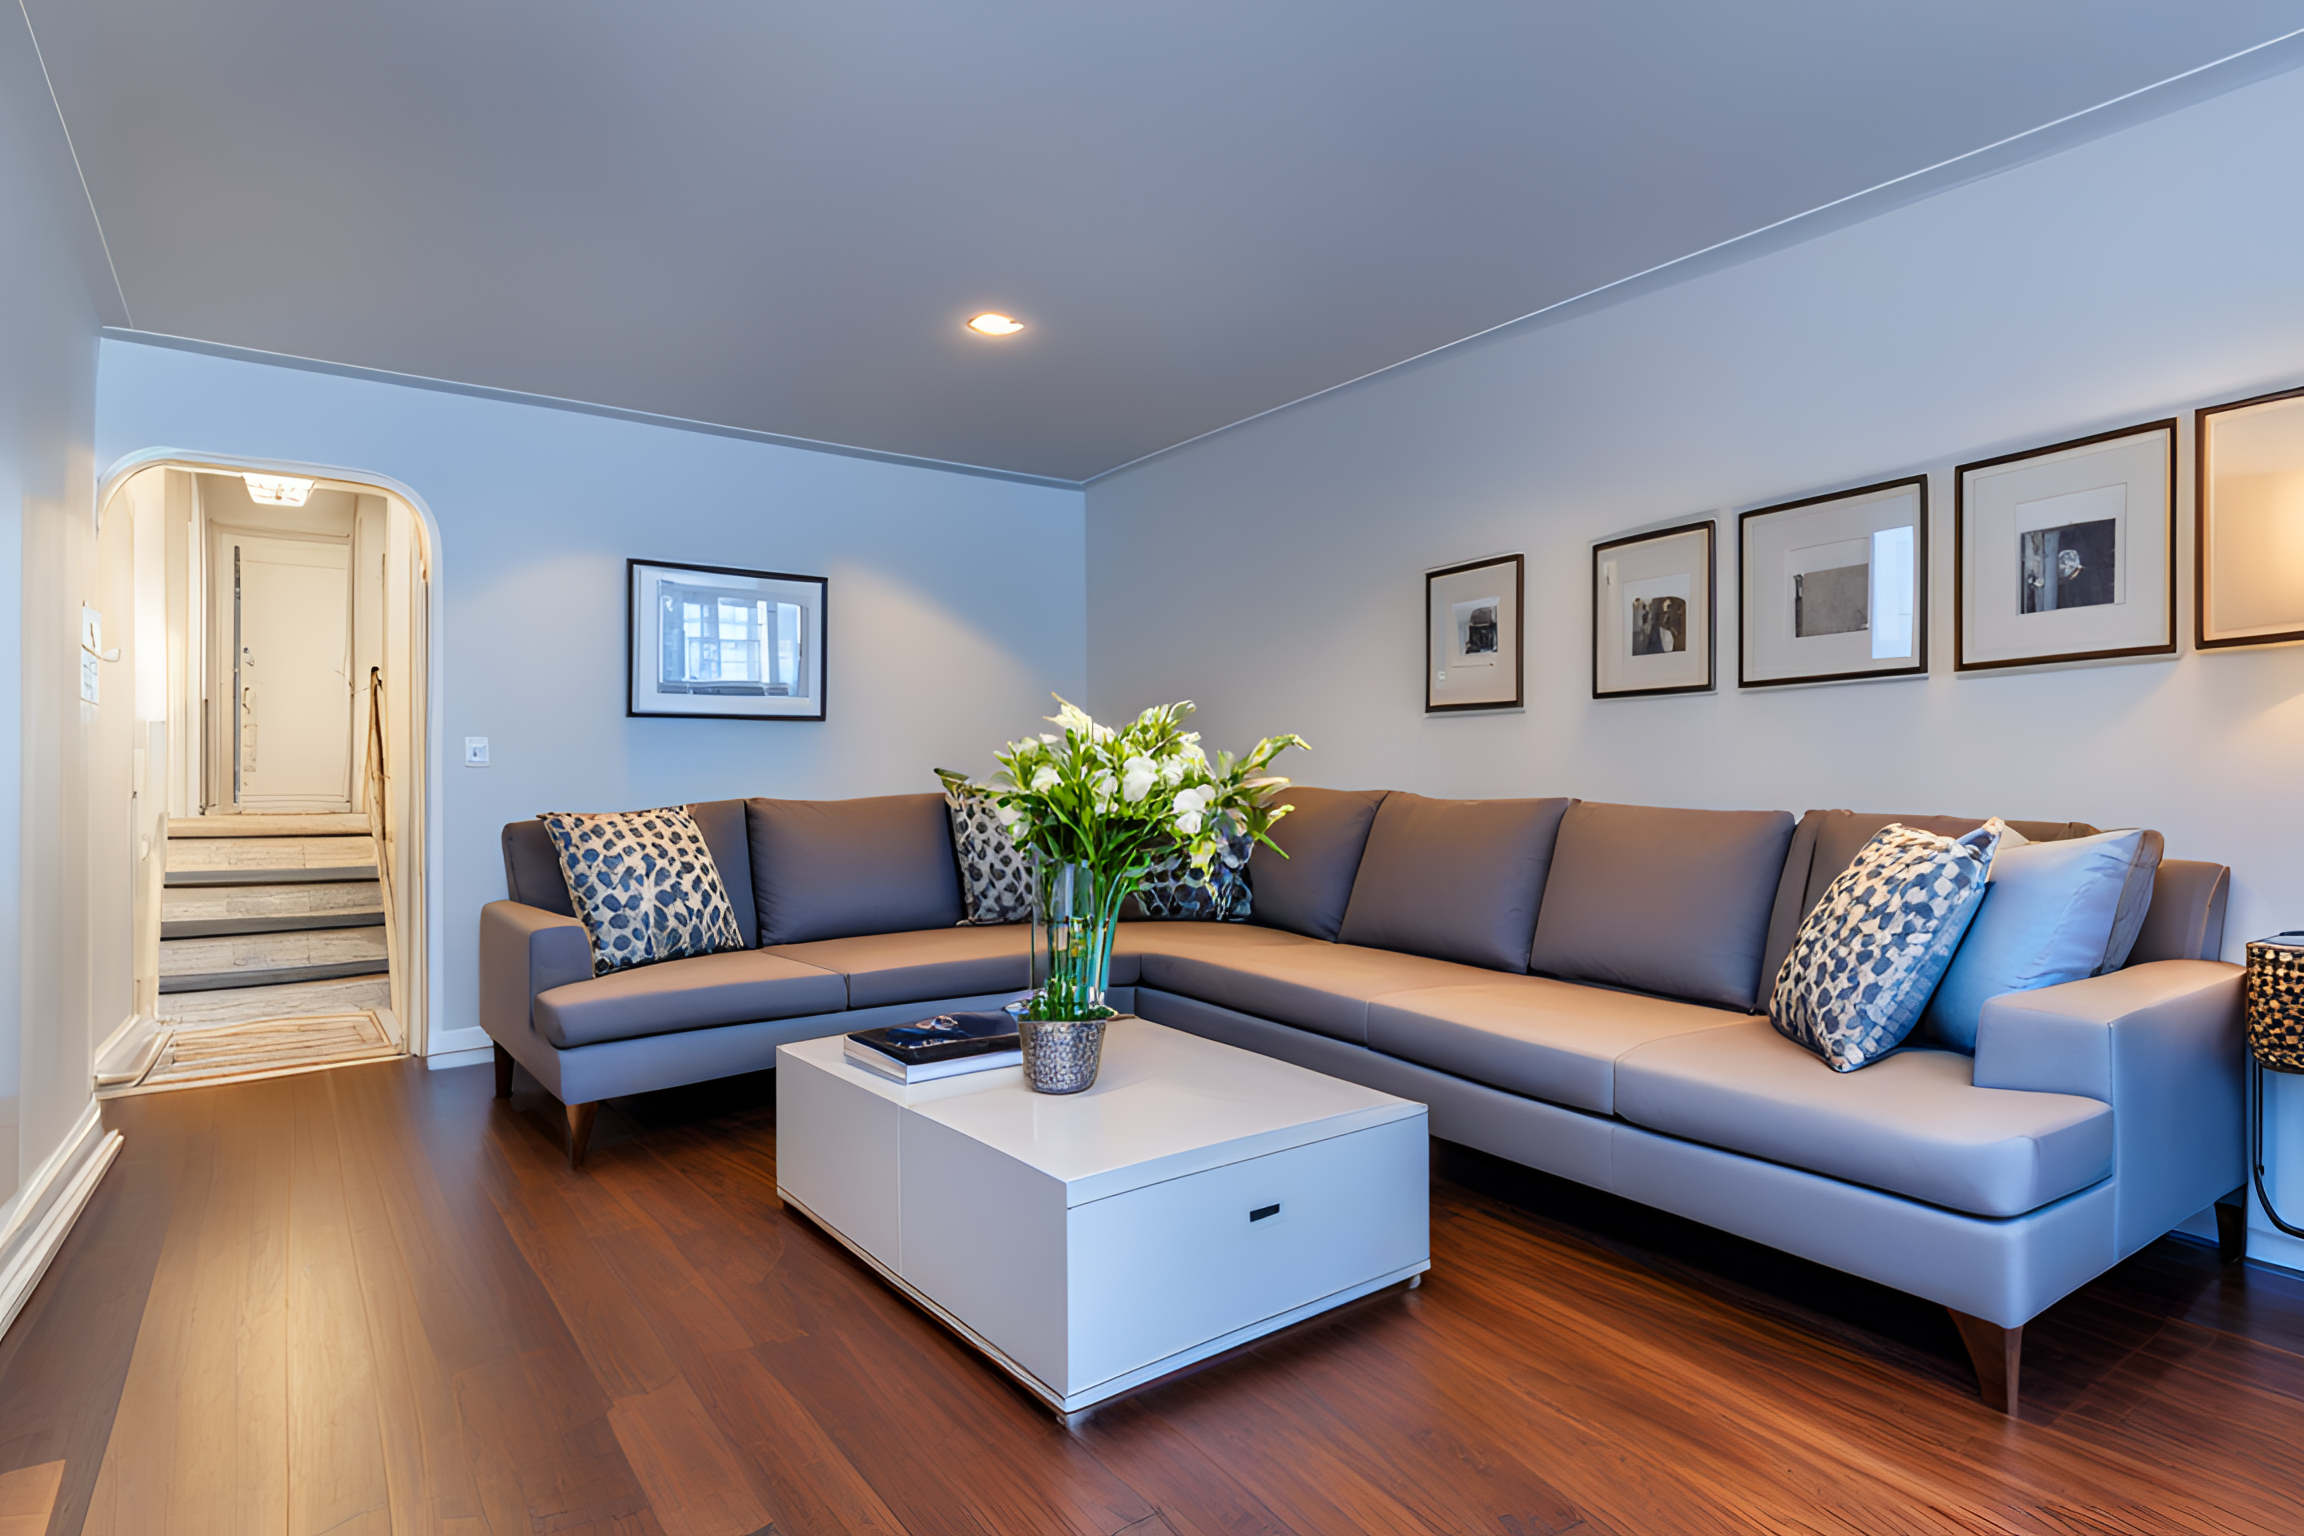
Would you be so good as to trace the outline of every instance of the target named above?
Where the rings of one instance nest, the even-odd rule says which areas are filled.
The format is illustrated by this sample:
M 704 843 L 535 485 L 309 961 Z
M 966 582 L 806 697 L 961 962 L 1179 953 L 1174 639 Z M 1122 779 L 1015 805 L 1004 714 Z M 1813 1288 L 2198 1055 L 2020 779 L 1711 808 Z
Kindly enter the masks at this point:
M 825 578 L 627 560 L 624 714 L 825 718 Z

